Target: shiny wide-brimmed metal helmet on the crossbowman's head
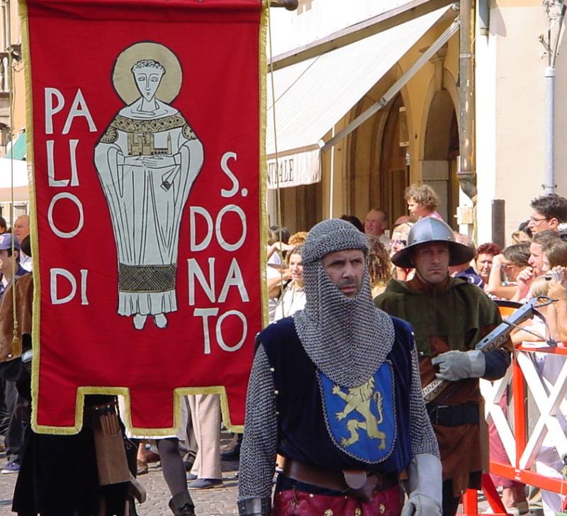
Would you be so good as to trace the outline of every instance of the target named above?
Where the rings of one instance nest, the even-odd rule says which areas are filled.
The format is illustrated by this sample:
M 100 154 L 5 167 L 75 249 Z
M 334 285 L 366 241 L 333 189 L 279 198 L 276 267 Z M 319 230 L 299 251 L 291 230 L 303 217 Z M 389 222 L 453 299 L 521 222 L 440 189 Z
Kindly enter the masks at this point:
M 474 251 L 470 247 L 455 242 L 453 230 L 443 220 L 433 217 L 420 218 L 412 226 L 408 235 L 408 245 L 395 253 L 392 262 L 398 267 L 413 267 L 413 249 L 426 242 L 447 242 L 449 244 L 449 265 L 461 265 L 470 262 Z

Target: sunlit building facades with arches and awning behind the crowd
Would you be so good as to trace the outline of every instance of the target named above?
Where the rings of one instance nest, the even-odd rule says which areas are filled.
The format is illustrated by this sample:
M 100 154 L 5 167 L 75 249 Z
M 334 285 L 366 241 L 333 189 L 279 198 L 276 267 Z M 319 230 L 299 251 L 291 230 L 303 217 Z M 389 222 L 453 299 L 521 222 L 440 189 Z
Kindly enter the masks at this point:
M 273 72 L 266 84 L 270 223 L 281 212 L 281 223 L 290 230 L 307 230 L 331 216 L 362 219 L 373 207 L 385 210 L 393 223 L 407 213 L 405 187 L 427 183 L 439 194 L 439 212 L 454 228 L 474 234 L 478 243 L 502 238 L 510 243 L 510 234 L 529 215 L 529 200 L 544 193 L 542 185 L 549 182 L 544 76 L 550 52 L 545 44 L 548 33 L 554 39 L 558 32 L 556 4 L 476 1 L 475 208 L 460 191 L 457 176 L 458 28 L 444 38 L 459 18 L 458 4 L 299 0 L 296 11 L 271 9 L 268 60 Z M 0 16 L 4 156 L 11 145 L 16 151 L 16 144 L 24 142 L 26 113 L 16 4 L 0 0 Z M 562 95 L 567 57 L 559 43 L 553 182 L 557 193 L 566 195 L 567 146 L 561 136 L 567 125 Z M 435 44 L 438 48 L 424 60 Z M 332 140 L 361 116 L 363 123 Z M 9 217 L 6 174 L 0 167 L 0 207 Z M 18 185 L 15 193 L 17 216 L 28 209 L 27 188 Z M 495 234 L 499 228 L 503 235 Z

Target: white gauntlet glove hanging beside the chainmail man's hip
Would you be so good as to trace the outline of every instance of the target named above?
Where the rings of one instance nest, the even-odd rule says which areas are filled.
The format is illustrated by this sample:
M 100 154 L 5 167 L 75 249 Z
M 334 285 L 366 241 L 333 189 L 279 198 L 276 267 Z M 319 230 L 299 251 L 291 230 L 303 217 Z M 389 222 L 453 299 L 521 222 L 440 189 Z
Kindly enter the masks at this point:
M 404 482 L 408 500 L 401 516 L 442 516 L 442 466 L 436 456 L 416 455 L 408 466 Z

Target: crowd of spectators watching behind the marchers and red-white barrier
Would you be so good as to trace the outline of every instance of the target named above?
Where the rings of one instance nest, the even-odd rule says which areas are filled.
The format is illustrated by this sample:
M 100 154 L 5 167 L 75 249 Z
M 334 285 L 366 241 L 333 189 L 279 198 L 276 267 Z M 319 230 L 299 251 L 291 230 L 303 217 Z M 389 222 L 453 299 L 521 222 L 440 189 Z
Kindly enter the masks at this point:
M 415 275 L 412 267 L 395 267 L 391 257 L 408 245 L 412 225 L 421 218 L 441 218 L 437 212 L 438 199 L 427 185 L 412 185 L 405 191 L 408 203 L 407 217 L 398 218 L 390 225 L 388 213 L 373 208 L 364 221 L 354 215 L 342 215 L 364 232 L 369 243 L 368 268 L 372 296 L 381 294 L 391 280 L 410 281 Z M 470 247 L 475 258 L 471 262 L 451 266 L 450 274 L 481 288 L 495 302 L 522 303 L 538 296 L 549 296 L 556 303 L 541 308 L 545 322 L 528 320 L 512 330 L 515 343 L 541 341 L 567 341 L 567 199 L 556 194 L 539 196 L 531 203 L 532 212 L 517 230 L 510 235 L 511 245 L 501 249 L 494 242 L 476 246 L 469 235 L 455 232 L 457 242 Z M 280 225 L 266 228 L 266 283 L 269 298 L 269 321 L 288 317 L 305 306 L 301 250 L 306 231 L 291 234 Z M 0 217 L 0 298 L 14 278 L 31 270 L 29 248 L 29 218 L 18 218 L 12 230 Z M 567 240 L 567 239 L 566 239 Z M 543 355 L 543 354 L 541 354 Z M 538 371 L 549 385 L 561 370 L 562 357 L 536 357 Z M 1 369 L 0 369 L 1 373 Z M 22 422 L 16 417 L 18 394 L 13 382 L 0 380 L 1 396 L 0 434 L 8 463 L 2 473 L 16 473 L 20 469 Z M 529 400 L 528 400 L 529 401 Z M 510 398 L 503 396 L 500 406 L 508 412 Z M 221 460 L 235 460 L 240 451 L 241 437 L 235 435 L 229 449 L 220 451 L 220 405 L 218 396 L 192 396 L 184 408 L 186 425 L 179 437 L 181 445 L 176 454 L 184 453 L 190 488 L 211 488 L 222 485 Z M 567 422 L 558 413 L 563 429 Z M 147 472 L 147 462 L 157 457 L 159 449 L 150 441 L 138 443 L 138 473 Z M 490 425 L 490 454 L 494 460 L 507 462 L 498 432 Z M 554 448 L 554 435 L 548 432 L 536 457 L 535 469 L 546 476 L 563 478 L 563 458 Z M 555 514 L 563 510 L 561 495 L 550 491 L 527 489 L 522 483 L 494 476 L 495 484 L 502 488 L 507 510 L 515 514 Z M 542 504 L 538 505 L 538 500 Z

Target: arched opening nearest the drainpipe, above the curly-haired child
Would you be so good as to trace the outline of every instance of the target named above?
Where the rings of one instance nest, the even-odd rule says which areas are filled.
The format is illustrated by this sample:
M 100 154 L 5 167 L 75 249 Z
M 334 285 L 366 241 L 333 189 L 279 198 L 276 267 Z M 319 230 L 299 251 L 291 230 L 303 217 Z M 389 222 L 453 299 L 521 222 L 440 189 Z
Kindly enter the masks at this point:
M 459 127 L 455 107 L 446 89 L 435 91 L 427 113 L 422 159 L 422 181 L 439 196 L 439 213 L 456 228 L 456 207 L 459 206 Z

